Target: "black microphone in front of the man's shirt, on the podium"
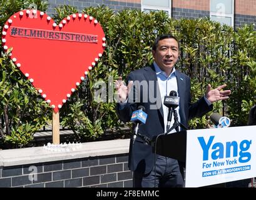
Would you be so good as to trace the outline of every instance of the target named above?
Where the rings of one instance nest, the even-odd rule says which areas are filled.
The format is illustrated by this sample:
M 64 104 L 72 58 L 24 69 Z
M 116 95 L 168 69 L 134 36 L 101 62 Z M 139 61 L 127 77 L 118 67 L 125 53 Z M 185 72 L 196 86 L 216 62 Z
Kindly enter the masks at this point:
M 179 103 L 180 103 L 180 98 L 177 96 L 177 91 L 174 91 L 174 90 L 170 91 L 170 95 L 165 96 L 163 104 L 169 108 L 168 116 L 167 116 L 166 131 L 168 131 L 168 129 L 170 128 L 173 111 L 175 108 L 178 107 Z

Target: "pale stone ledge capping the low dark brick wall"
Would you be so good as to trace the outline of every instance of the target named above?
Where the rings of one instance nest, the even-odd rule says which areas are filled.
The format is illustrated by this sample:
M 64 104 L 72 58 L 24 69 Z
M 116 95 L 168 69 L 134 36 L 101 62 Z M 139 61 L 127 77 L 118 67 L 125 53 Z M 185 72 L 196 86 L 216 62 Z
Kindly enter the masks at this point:
M 53 152 L 43 149 L 43 147 L 6 149 L 0 151 L 0 167 L 125 154 L 129 151 L 129 145 L 130 139 L 115 139 L 82 143 L 81 148 L 69 152 Z

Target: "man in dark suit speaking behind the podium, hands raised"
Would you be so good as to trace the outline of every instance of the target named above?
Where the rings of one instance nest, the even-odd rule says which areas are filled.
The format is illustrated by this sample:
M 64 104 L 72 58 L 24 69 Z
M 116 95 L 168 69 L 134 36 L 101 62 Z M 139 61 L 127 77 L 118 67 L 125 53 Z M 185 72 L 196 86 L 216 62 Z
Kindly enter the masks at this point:
M 228 99 L 230 91 L 222 91 L 225 84 L 217 89 L 208 85 L 203 98 L 191 103 L 190 78 L 175 69 L 178 61 L 179 46 L 177 39 L 164 34 L 156 38 L 152 48 L 154 63 L 128 75 L 128 86 L 121 78 L 116 81 L 119 102 L 116 106 L 118 117 L 123 122 L 131 119 L 133 111 L 138 106 L 145 107 L 148 114 L 146 124 L 140 125 L 140 133 L 149 138 L 165 133 L 168 108 L 163 106 L 164 96 L 170 91 L 177 91 L 180 103 L 176 108 L 180 123 L 188 126 L 188 120 L 200 117 L 212 109 L 212 103 Z M 171 122 L 171 126 L 173 120 Z M 175 130 L 173 130 L 175 131 Z M 173 132 L 172 131 L 172 132 Z M 131 143 L 132 144 L 132 143 Z M 178 161 L 163 156 L 155 157 L 152 148 L 143 144 L 141 138 L 136 138 L 134 145 L 130 144 L 128 166 L 133 173 L 135 187 L 182 187 L 183 178 Z

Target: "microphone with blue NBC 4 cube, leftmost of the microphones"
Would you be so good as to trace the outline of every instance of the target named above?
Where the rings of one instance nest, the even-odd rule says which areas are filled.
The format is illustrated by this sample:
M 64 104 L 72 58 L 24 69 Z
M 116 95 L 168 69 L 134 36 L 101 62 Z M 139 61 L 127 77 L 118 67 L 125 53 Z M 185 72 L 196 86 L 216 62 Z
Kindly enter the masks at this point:
M 134 134 L 133 134 L 133 144 L 135 143 L 135 139 L 138 135 L 139 125 L 146 123 L 146 118 L 148 114 L 146 114 L 144 111 L 145 111 L 145 107 L 139 106 L 138 110 L 134 111 L 133 114 L 131 114 L 131 121 L 133 123 L 136 123 Z

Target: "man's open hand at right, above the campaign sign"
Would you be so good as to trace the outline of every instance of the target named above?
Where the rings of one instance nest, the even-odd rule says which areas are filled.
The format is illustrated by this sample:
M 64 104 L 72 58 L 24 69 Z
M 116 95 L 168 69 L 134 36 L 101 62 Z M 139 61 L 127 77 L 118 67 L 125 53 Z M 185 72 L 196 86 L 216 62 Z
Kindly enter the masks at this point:
M 211 85 L 208 84 L 207 91 L 205 93 L 205 97 L 211 102 L 220 101 L 220 100 L 227 100 L 228 95 L 230 95 L 230 90 L 222 90 L 227 85 L 223 84 L 222 86 L 218 86 L 216 89 L 211 89 Z

